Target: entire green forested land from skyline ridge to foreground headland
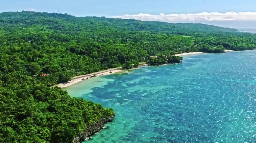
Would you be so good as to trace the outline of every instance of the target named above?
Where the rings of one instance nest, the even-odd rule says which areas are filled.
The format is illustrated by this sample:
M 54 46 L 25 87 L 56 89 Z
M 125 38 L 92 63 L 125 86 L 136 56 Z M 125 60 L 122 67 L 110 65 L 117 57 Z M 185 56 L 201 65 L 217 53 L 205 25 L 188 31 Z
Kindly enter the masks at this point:
M 0 13 L 0 143 L 70 143 L 113 116 L 112 109 L 50 87 L 75 75 L 176 63 L 182 58 L 173 54 L 183 52 L 250 49 L 256 49 L 255 34 L 211 25 Z

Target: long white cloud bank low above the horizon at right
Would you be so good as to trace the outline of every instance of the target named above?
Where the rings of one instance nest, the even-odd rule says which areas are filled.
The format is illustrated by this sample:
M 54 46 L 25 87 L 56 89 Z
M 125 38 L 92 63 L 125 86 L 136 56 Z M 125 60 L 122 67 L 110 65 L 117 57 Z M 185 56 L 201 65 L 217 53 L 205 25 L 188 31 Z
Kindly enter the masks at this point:
M 137 19 L 142 21 L 164 21 L 164 22 L 184 22 L 184 21 L 256 21 L 256 12 L 202 12 L 197 14 L 163 14 L 150 15 L 150 14 L 138 14 L 138 15 L 123 15 L 113 16 L 112 18 L 121 19 Z

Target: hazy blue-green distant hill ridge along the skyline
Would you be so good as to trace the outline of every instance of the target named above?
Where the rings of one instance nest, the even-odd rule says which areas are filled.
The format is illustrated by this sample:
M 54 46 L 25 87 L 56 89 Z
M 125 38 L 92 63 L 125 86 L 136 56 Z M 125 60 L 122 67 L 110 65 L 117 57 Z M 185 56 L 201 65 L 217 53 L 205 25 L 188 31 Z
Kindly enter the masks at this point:
M 0 22 L 26 25 L 34 24 L 49 24 L 58 22 L 59 20 L 67 23 L 73 23 L 79 26 L 94 26 L 101 27 L 115 27 L 119 30 L 129 31 L 151 31 L 151 32 L 170 32 L 170 34 L 194 34 L 194 32 L 236 32 L 238 30 L 232 28 L 223 28 L 205 24 L 193 23 L 165 23 L 165 22 L 148 22 L 134 19 L 112 19 L 105 17 L 75 17 L 68 14 L 58 13 L 40 13 L 40 12 L 4 12 L 0 13 Z M 53 19 L 54 18 L 54 19 Z M 47 20 L 46 20 L 47 19 Z M 52 20 L 52 21 L 51 21 Z M 90 22 L 90 23 L 82 23 Z M 58 23 L 60 24 L 60 23 Z M 101 25 L 92 25 L 101 24 Z M 100 27 L 99 27 L 100 26 Z

